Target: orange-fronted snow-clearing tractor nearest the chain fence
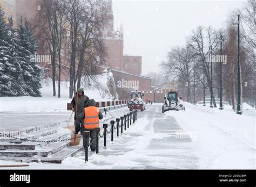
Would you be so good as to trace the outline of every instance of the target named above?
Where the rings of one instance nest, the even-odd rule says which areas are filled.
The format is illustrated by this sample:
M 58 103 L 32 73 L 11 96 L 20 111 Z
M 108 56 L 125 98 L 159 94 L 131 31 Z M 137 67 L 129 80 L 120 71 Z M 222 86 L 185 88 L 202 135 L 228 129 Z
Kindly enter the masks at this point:
M 141 91 L 132 91 L 130 93 L 131 99 L 127 102 L 127 106 L 129 107 L 129 110 L 140 110 L 144 111 L 145 106 L 143 103 L 142 97 L 144 96 L 144 93 Z

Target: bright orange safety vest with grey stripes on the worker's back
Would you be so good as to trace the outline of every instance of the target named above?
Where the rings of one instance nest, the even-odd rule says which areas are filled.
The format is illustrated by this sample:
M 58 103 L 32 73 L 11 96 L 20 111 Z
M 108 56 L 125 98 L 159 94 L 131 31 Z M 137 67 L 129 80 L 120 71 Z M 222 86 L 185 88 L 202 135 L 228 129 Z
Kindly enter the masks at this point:
M 84 109 L 84 128 L 94 129 L 99 127 L 99 109 L 95 106 L 87 106 Z

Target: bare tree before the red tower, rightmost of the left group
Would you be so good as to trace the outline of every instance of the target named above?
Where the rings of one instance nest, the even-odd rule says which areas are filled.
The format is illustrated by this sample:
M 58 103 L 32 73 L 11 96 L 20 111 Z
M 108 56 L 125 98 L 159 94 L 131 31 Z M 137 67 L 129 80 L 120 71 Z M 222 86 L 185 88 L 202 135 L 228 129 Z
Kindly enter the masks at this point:
M 79 30 L 79 62 L 75 83 L 80 87 L 81 77 L 90 81 L 92 75 L 97 74 L 97 65 L 105 61 L 106 47 L 100 35 L 100 29 L 105 20 L 105 12 L 99 14 L 99 2 L 90 0 L 86 2 L 84 17 Z

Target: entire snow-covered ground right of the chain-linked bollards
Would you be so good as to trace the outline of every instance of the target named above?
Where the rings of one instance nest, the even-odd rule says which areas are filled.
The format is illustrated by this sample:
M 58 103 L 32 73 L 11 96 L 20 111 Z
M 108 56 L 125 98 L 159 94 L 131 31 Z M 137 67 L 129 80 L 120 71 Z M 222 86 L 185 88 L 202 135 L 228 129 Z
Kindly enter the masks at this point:
M 216 112 L 189 103 L 185 106 L 186 111 L 163 114 L 161 104 L 146 105 L 146 110 L 138 112 L 138 120 L 123 135 L 116 137 L 115 131 L 113 142 L 110 134 L 107 135 L 107 149 L 103 149 L 103 139 L 100 139 L 99 154 L 89 151 L 87 163 L 84 163 L 84 152 L 79 152 L 62 164 L 30 163 L 30 167 L 20 169 L 256 168 L 255 141 L 251 138 L 255 134 L 252 116 L 233 115 L 227 110 Z M 113 114 L 119 117 L 128 112 L 124 108 Z M 229 131 L 225 116 L 236 120 L 233 131 Z M 243 123 L 247 126 L 241 132 L 239 126 Z M 246 132 L 247 138 L 241 137 Z

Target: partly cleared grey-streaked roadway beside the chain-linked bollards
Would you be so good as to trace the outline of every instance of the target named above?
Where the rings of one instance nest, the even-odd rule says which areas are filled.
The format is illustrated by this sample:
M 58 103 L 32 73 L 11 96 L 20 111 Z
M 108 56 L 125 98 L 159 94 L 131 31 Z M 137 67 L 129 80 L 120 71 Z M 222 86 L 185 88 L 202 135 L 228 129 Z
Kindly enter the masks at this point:
M 89 157 L 92 168 L 197 169 L 199 157 L 194 142 L 190 137 L 179 138 L 177 135 L 183 130 L 177 121 L 163 116 L 160 104 L 147 105 L 123 135 L 107 141 L 107 149 L 100 148 L 98 155 Z M 84 159 L 84 153 L 76 158 Z

